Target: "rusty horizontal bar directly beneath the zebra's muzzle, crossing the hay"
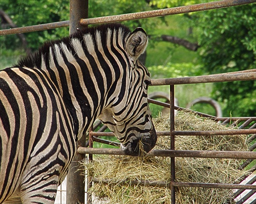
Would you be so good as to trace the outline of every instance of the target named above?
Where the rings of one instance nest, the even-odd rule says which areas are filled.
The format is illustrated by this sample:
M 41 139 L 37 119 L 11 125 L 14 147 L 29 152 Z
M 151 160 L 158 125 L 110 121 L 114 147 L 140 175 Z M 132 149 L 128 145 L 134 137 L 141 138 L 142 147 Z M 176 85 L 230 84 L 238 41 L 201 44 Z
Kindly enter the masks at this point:
M 113 154 L 125 155 L 121 149 L 79 147 L 80 154 Z M 256 159 L 256 152 L 247 151 L 195 151 L 195 150 L 160 150 L 153 149 L 145 156 L 197 157 L 197 158 L 236 158 Z

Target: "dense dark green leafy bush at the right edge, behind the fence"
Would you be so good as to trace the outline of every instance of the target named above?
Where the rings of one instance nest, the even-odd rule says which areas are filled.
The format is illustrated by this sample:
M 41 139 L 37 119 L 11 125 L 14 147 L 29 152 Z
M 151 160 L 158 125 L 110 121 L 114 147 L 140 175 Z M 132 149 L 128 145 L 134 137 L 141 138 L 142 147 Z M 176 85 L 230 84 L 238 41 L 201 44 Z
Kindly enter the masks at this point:
M 210 74 L 255 69 L 256 5 L 244 5 L 196 14 L 205 70 Z M 212 95 L 227 106 L 223 115 L 256 115 L 256 82 L 216 83 Z

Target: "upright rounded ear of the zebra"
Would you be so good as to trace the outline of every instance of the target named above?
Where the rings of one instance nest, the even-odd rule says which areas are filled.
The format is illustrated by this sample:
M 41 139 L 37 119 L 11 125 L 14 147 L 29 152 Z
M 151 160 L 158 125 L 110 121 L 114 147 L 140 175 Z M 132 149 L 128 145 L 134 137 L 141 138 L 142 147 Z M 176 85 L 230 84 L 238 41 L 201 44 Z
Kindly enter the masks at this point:
M 147 34 L 142 28 L 136 28 L 126 40 L 126 51 L 134 59 L 145 51 L 147 46 Z

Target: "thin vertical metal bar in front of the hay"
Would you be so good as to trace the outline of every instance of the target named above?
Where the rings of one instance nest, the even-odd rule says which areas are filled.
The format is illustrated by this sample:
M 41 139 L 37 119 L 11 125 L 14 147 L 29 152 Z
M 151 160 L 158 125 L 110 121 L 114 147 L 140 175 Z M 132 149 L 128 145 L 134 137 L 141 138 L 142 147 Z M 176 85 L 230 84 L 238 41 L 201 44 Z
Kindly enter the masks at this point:
M 175 135 L 174 135 L 174 105 L 175 105 L 175 93 L 174 85 L 170 85 L 170 149 L 175 150 Z M 175 204 L 175 187 L 173 183 L 175 182 L 175 157 L 170 157 L 170 195 L 171 195 L 171 204 Z

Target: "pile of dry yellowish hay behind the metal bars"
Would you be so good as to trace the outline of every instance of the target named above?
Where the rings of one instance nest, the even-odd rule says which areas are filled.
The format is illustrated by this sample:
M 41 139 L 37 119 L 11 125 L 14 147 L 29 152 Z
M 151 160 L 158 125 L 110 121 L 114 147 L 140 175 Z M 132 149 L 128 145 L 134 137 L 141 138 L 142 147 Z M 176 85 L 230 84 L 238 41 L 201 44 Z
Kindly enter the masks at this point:
M 154 121 L 157 131 L 169 131 L 168 116 Z M 175 120 L 176 130 L 225 130 L 216 122 L 185 112 Z M 169 137 L 159 136 L 155 149 L 169 149 Z M 246 135 L 177 136 L 176 149 L 246 151 Z M 89 190 L 97 198 L 93 203 L 170 203 L 170 189 L 132 184 L 133 180 L 170 180 L 170 158 L 131 156 L 98 156 L 91 164 L 82 163 L 89 173 L 104 182 L 94 183 Z M 213 158 L 176 158 L 176 181 L 195 183 L 233 184 L 245 174 L 238 168 L 241 160 Z M 91 174 L 91 175 L 92 175 Z M 125 184 L 123 181 L 125 180 Z M 176 203 L 223 203 L 231 197 L 231 190 L 208 188 L 177 188 Z

